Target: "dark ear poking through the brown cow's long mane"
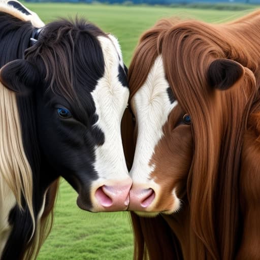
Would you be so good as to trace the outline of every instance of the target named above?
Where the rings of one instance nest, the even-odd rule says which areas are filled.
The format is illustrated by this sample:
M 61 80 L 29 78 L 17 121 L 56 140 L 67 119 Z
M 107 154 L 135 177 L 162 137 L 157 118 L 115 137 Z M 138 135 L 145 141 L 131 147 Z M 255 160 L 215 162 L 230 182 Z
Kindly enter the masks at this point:
M 226 90 L 232 87 L 244 74 L 243 66 L 231 59 L 216 59 L 208 70 L 209 85 Z

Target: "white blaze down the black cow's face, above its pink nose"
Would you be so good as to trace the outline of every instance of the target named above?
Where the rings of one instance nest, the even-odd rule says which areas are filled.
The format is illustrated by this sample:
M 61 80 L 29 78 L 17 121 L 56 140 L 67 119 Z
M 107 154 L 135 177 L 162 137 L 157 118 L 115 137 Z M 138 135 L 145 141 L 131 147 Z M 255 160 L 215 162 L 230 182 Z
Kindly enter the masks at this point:
M 119 58 L 122 60 L 121 51 L 118 43 L 115 47 L 116 39 L 111 41 L 109 38 L 98 37 L 105 59 L 105 74 L 98 81 L 95 89 L 92 91 L 93 101 L 95 103 L 96 114 L 99 120 L 95 126 L 99 127 L 105 134 L 105 143 L 95 147 L 94 169 L 98 173 L 99 179 L 92 184 L 91 199 L 95 205 L 95 187 L 113 185 L 117 182 L 124 181 L 128 176 L 124 152 L 121 140 L 120 124 L 127 106 L 129 90 L 122 86 L 118 80 Z M 95 206 L 98 207 L 98 204 Z

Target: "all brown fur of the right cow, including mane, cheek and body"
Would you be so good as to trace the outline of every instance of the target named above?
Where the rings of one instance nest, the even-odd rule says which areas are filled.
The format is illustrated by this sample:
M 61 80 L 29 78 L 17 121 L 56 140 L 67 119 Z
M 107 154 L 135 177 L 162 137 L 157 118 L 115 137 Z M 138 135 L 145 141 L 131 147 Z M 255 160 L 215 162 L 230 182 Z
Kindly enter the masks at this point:
M 159 166 L 154 174 L 161 175 L 160 185 L 171 182 L 178 190 L 185 190 L 181 195 L 183 207 L 181 212 L 158 221 L 133 213 L 135 258 L 145 259 L 148 254 L 150 259 L 157 259 L 156 251 L 164 254 L 166 247 L 176 248 L 177 239 L 168 235 L 171 227 L 180 245 L 177 250 L 168 248 L 161 259 L 259 259 L 260 12 L 220 25 L 194 20 L 159 21 L 141 37 L 129 67 L 131 98 L 145 82 L 159 54 L 181 110 L 192 118 L 192 138 L 184 140 L 179 148 L 193 147 L 193 154 L 190 158 L 188 148 L 183 158 L 190 158 L 191 166 L 179 176 L 174 161 L 180 154 L 170 146 L 183 137 L 176 136 L 177 141 L 174 134 L 166 135 L 167 140 L 162 139 L 156 147 L 153 160 Z M 240 63 L 239 77 L 224 91 L 214 88 L 217 86 L 212 86 L 209 79 L 209 67 L 219 58 Z M 224 83 L 220 89 L 227 88 Z M 171 120 L 167 124 L 174 125 Z M 178 167 L 185 167 L 183 161 Z M 163 178 L 173 169 L 170 177 Z M 180 182 L 181 178 L 185 181 Z M 160 201 L 165 203 L 166 199 Z M 149 224 L 152 222 L 154 227 Z M 167 230 L 166 235 L 158 225 Z M 163 248 L 160 241 L 165 241 Z

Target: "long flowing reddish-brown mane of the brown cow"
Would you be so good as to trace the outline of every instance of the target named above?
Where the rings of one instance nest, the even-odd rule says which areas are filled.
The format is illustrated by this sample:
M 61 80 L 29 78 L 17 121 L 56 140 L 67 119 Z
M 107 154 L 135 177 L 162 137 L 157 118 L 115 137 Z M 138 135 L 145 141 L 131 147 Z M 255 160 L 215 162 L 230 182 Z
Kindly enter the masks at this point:
M 248 149 L 245 135 L 253 128 L 253 142 L 258 145 L 260 136 L 259 24 L 259 11 L 219 25 L 163 19 L 142 35 L 129 67 L 132 98 L 145 82 L 155 58 L 161 55 L 174 95 L 192 118 L 194 151 L 185 206 L 189 209 L 187 243 L 192 259 L 233 259 L 241 243 L 240 179 L 247 173 L 243 152 Z M 243 77 L 230 90 L 216 91 L 208 84 L 208 68 L 217 58 L 232 59 L 245 67 Z M 148 252 L 151 259 L 157 259 L 152 252 L 161 250 L 161 243 L 157 245 L 152 236 L 144 237 L 151 234 L 152 228 L 142 224 L 153 220 L 134 215 L 132 220 L 135 258 L 143 259 Z M 157 221 L 166 225 L 161 217 Z M 159 234 L 156 239 L 169 244 L 169 236 Z M 173 249 L 168 257 L 181 258 L 179 251 Z

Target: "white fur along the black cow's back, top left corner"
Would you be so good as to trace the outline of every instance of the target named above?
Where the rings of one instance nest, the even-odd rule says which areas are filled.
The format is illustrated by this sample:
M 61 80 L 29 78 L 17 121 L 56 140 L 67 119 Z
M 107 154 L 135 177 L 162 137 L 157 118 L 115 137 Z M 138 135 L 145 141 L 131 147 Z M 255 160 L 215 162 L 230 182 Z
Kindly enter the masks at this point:
M 26 15 L 26 14 L 20 12 L 19 10 L 15 9 L 13 6 L 8 5 L 9 1 L 10 0 L 0 0 L 0 10 L 2 12 L 11 14 L 11 15 L 21 19 L 22 21 L 30 21 L 31 24 L 37 28 L 41 28 L 45 25 L 44 22 L 40 19 L 40 17 L 35 12 L 30 11 L 28 8 L 26 8 L 24 5 L 22 5 L 20 2 L 18 2 L 16 0 L 12 0 L 12 1 L 19 3 L 24 9 L 26 9 L 31 14 L 31 15 Z

